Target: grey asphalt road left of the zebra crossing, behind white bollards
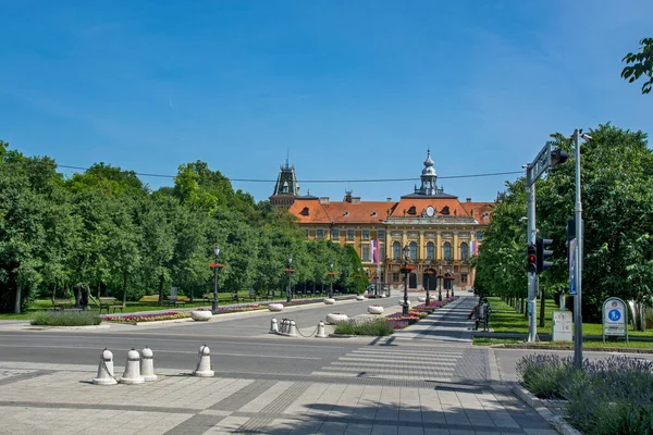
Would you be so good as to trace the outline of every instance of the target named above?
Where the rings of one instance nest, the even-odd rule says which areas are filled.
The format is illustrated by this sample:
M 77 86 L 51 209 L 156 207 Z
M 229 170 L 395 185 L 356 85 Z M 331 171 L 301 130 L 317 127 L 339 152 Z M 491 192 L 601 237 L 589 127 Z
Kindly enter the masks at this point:
M 416 299 L 415 297 L 412 299 Z M 395 307 L 398 297 L 335 306 L 304 306 L 284 310 L 218 316 L 211 322 L 159 325 L 114 325 L 93 331 L 0 331 L 0 361 L 57 364 L 97 364 L 107 347 L 116 366 L 126 351 L 145 346 L 155 352 L 159 368 L 190 371 L 201 345 L 211 349 L 217 372 L 309 374 L 372 339 L 291 338 L 270 335 L 272 318 L 294 319 L 299 327 L 315 327 L 330 312 L 354 316 L 367 312 L 370 303 Z M 283 314 L 283 315 L 281 315 Z

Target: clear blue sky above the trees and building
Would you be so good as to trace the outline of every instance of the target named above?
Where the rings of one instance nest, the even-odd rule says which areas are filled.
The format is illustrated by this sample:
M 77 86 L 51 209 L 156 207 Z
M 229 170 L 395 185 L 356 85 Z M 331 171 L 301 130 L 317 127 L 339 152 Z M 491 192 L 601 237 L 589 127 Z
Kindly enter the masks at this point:
M 171 175 L 202 160 L 274 179 L 289 150 L 300 181 L 418 177 L 427 148 L 440 176 L 519 171 L 553 132 L 653 133 L 653 96 L 619 77 L 653 36 L 653 2 L 626 4 L 0 0 L 0 139 Z M 483 201 L 505 179 L 439 184 Z M 301 190 L 383 200 L 412 185 Z

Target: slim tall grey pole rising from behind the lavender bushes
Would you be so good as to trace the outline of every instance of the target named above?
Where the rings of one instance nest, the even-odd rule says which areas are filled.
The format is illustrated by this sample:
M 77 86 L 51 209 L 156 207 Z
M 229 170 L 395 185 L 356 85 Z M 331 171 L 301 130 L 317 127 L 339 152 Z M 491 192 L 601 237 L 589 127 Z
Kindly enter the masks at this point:
M 574 147 L 576 152 L 576 296 L 574 297 L 574 365 L 582 366 L 582 202 L 580 201 L 580 130 L 574 130 Z

